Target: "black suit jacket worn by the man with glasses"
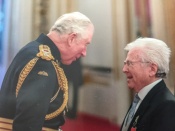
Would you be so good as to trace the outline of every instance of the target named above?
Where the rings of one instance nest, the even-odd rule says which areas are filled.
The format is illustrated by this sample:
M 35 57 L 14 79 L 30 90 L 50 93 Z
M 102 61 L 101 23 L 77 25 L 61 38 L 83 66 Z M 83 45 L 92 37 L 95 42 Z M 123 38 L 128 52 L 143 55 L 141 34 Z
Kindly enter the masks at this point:
M 145 96 L 128 131 L 131 128 L 136 131 L 175 131 L 175 97 L 163 80 Z

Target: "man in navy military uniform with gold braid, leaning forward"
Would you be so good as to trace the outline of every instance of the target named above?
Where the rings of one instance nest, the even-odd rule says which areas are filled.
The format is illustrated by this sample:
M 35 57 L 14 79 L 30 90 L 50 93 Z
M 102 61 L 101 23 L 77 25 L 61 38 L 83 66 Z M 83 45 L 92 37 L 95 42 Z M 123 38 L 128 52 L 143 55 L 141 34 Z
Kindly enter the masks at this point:
M 68 102 L 61 65 L 86 56 L 93 30 L 85 15 L 64 14 L 17 53 L 0 90 L 0 130 L 61 130 Z

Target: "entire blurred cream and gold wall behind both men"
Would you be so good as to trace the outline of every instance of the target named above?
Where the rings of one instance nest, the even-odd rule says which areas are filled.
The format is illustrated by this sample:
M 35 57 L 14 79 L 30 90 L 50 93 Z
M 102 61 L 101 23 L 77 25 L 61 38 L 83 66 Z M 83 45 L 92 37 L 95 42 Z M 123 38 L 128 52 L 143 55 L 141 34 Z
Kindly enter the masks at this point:
M 82 59 L 85 83 L 79 92 L 79 111 L 121 124 L 132 99 L 122 73 L 126 56 L 123 48 L 140 36 L 159 38 L 171 47 L 171 72 L 166 82 L 174 92 L 173 0 L 15 0 L 6 3 L 8 15 L 1 72 L 6 71 L 22 46 L 41 32 L 48 33 L 61 14 L 80 11 L 94 23 L 95 34 L 87 57 Z

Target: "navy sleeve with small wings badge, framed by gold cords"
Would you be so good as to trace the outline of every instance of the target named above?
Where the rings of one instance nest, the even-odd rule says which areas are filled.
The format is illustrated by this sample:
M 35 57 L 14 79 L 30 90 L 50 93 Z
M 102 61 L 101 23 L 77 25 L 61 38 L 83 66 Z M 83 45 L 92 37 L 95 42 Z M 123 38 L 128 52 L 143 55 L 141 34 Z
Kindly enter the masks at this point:
M 56 88 L 53 65 L 50 61 L 38 60 L 18 93 L 13 131 L 40 131 Z

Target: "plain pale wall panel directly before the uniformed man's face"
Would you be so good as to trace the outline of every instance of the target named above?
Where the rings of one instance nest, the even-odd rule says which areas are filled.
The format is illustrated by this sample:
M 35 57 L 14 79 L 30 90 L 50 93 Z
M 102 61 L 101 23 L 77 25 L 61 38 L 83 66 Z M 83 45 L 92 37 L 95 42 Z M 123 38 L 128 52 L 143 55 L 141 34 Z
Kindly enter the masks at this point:
M 78 0 L 77 9 L 86 14 L 95 26 L 93 40 L 83 58 L 85 65 L 113 67 L 112 12 L 109 0 Z

